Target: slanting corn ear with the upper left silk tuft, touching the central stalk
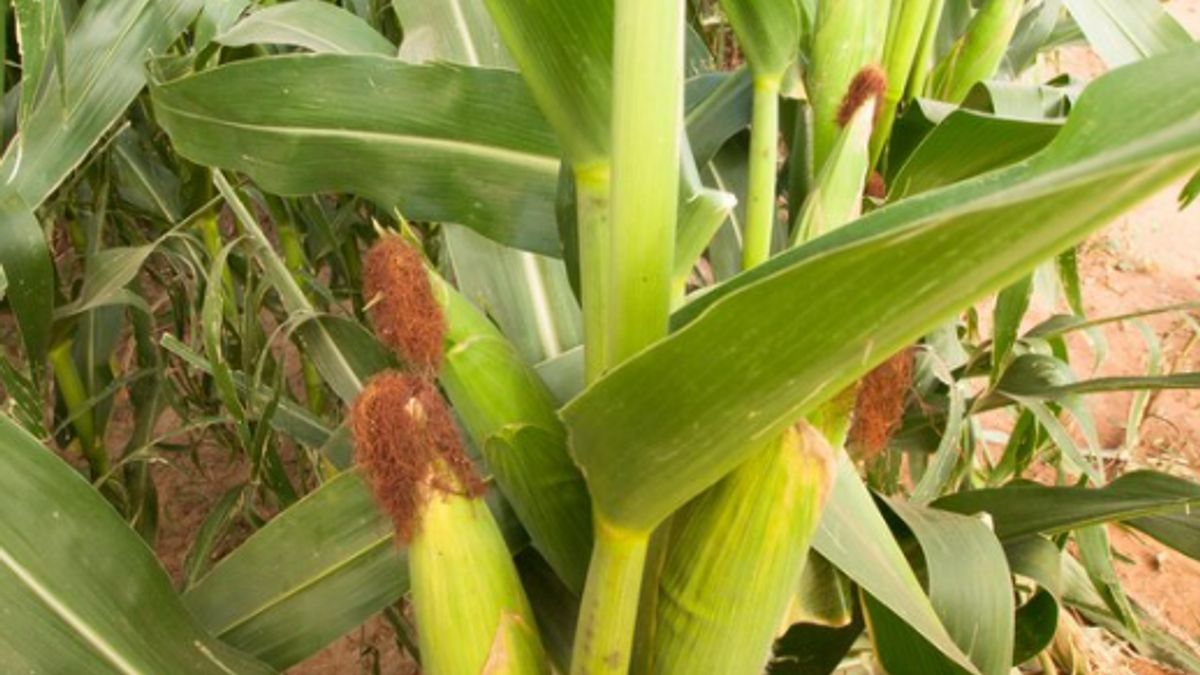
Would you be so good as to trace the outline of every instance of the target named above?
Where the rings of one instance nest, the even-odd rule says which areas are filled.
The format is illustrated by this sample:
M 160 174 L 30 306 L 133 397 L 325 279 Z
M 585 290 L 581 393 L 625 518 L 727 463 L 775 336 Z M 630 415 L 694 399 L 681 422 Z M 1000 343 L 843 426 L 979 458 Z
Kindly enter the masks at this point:
M 365 276 L 373 280 L 377 295 L 374 322 L 394 327 L 384 333 L 396 336 L 392 342 L 401 345 L 402 357 L 404 352 L 428 354 L 431 338 L 422 329 L 389 322 L 383 313 L 438 315 L 443 333 L 433 336 L 433 344 L 439 353 L 445 350 L 438 368 L 446 396 L 534 548 L 580 593 L 592 554 L 590 500 L 568 454 L 566 431 L 546 384 L 496 325 L 427 270 L 401 238 L 386 237 L 372 249 Z M 428 307 L 410 297 L 420 295 L 416 280 L 427 280 Z

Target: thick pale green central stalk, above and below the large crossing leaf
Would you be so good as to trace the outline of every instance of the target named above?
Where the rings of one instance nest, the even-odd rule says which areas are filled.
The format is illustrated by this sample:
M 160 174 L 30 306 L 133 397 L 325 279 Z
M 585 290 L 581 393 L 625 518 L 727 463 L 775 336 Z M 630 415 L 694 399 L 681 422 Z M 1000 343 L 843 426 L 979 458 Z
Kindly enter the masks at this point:
M 605 368 L 667 334 L 686 4 L 617 0 L 614 11 L 611 240 L 602 252 L 587 252 L 607 255 L 612 270 L 610 279 L 600 280 L 608 281 L 612 291 L 605 306 Z M 650 532 L 613 528 L 599 512 L 594 527 L 571 673 L 623 674 L 629 669 Z

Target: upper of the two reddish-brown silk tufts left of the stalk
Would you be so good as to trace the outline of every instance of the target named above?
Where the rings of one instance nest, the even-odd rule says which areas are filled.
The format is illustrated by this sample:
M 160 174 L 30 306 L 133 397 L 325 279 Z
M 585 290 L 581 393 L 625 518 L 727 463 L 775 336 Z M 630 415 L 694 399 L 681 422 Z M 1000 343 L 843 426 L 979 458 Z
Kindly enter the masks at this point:
M 446 324 L 421 253 L 400 237 L 383 237 L 364 261 L 362 295 L 379 340 L 414 371 L 437 374 Z

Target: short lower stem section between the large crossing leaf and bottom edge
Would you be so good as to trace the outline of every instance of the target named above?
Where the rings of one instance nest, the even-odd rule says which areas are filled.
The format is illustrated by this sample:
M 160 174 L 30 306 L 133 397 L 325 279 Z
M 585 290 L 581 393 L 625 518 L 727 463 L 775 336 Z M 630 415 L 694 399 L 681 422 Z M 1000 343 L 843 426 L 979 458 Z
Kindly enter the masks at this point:
M 595 548 L 575 631 L 572 675 L 625 673 L 649 536 L 595 519 Z

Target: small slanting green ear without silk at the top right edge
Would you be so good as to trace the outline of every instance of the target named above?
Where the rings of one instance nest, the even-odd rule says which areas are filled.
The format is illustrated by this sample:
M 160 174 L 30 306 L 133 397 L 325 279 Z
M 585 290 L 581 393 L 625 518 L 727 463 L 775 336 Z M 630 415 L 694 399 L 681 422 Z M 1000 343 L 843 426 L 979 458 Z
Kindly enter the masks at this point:
M 996 73 L 1021 18 L 1025 0 L 988 0 L 934 71 L 934 97 L 961 103 L 971 88 Z

